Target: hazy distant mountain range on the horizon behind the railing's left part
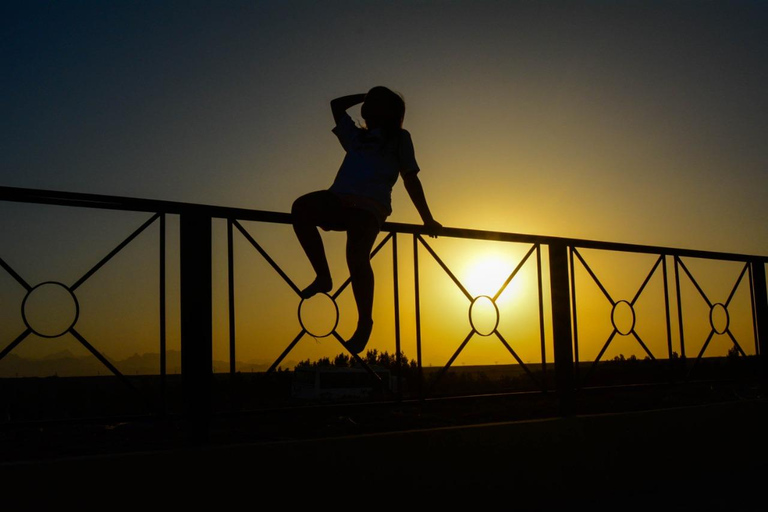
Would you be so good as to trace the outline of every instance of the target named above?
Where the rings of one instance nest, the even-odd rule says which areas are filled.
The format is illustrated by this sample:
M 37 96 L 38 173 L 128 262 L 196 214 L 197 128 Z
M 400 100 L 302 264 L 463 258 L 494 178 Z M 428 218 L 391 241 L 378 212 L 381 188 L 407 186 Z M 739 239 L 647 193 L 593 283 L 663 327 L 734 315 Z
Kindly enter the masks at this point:
M 126 359 L 107 358 L 123 375 L 158 375 L 160 374 L 160 354 L 134 354 Z M 283 368 L 293 369 L 295 361 L 284 361 Z M 239 362 L 237 369 L 242 373 L 263 372 L 269 369 L 266 362 Z M 181 352 L 166 352 L 166 373 L 181 373 Z M 228 361 L 213 361 L 214 373 L 229 372 Z M 96 357 L 75 356 L 68 350 L 56 352 L 41 358 L 24 358 L 14 353 L 0 360 L 0 378 L 3 377 L 81 377 L 110 375 L 112 371 Z

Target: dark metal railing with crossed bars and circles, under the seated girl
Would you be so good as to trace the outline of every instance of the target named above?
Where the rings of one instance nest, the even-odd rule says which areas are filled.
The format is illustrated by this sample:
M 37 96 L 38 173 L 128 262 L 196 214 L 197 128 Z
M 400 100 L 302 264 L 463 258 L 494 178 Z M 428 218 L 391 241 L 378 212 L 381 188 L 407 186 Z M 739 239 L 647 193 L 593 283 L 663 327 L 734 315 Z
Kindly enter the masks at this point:
M 66 291 L 71 299 L 77 305 L 75 292 L 80 285 L 87 281 L 91 276 L 97 273 L 108 261 L 116 254 L 128 246 L 137 236 L 143 233 L 149 226 L 155 223 L 159 226 L 159 318 L 160 318 L 160 376 L 164 383 L 166 378 L 166 218 L 169 215 L 179 218 L 179 273 L 180 273 L 180 328 L 181 328 L 181 379 L 184 397 L 184 411 L 190 417 L 206 417 L 210 412 L 211 386 L 212 386 L 212 222 L 214 219 L 224 219 L 227 226 L 227 281 L 228 281 L 228 308 L 229 308 L 229 352 L 230 352 L 230 373 L 235 374 L 236 368 L 236 301 L 235 289 L 237 279 L 235 278 L 235 251 L 233 250 L 236 234 L 242 236 L 247 244 L 257 251 L 274 272 L 290 287 L 298 296 L 299 288 L 291 280 L 288 273 L 283 270 L 275 259 L 271 257 L 267 250 L 259 243 L 257 237 L 254 237 L 243 225 L 244 222 L 284 224 L 289 225 L 291 218 L 289 214 L 268 212 L 259 210 L 248 210 L 238 208 L 225 208 L 216 206 L 205 206 L 198 204 L 188 204 L 168 201 L 154 201 L 146 199 L 124 198 L 116 196 L 104 196 L 93 194 L 51 192 L 32 189 L 21 189 L 11 187 L 0 187 L 0 201 L 12 201 L 30 204 L 49 204 L 79 208 L 96 208 L 106 210 L 121 210 L 132 212 L 147 212 L 150 216 L 142 223 L 130 236 L 119 243 L 113 250 L 104 256 L 95 266 L 88 270 L 82 277 L 72 284 L 65 284 L 58 281 L 46 281 L 37 285 L 31 285 L 20 275 L 5 259 L 0 251 L 0 266 L 20 285 L 26 295 L 21 305 L 22 317 L 25 329 L 16 336 L 9 344 L 0 345 L 0 361 L 11 353 L 16 347 L 22 344 L 32 334 L 40 336 L 61 336 L 65 333 L 71 334 L 83 347 L 85 347 L 96 359 L 98 359 L 112 374 L 114 374 L 127 387 L 135 388 L 132 379 L 123 375 L 108 358 L 99 352 L 89 341 L 77 330 L 76 324 L 78 316 L 75 315 L 71 325 L 62 332 L 43 333 L 36 329 L 33 323 L 30 323 L 25 316 L 25 303 L 31 294 L 41 286 L 56 286 Z M 715 335 L 728 336 L 732 341 L 734 349 L 742 356 L 747 355 L 743 343 L 730 328 L 730 311 L 732 299 L 737 290 L 743 286 L 748 286 L 750 314 L 752 331 L 755 341 L 754 353 L 761 356 L 768 354 L 766 344 L 768 344 L 768 300 L 766 299 L 766 278 L 765 264 L 768 262 L 766 256 L 741 255 L 723 252 L 696 251 L 690 249 L 675 249 L 667 247 L 653 247 L 644 245 L 598 242 L 590 240 L 568 239 L 561 237 L 548 237 L 537 235 L 525 235 L 514 233 L 503 233 L 482 230 L 469 230 L 457 228 L 444 228 L 440 233 L 442 238 L 456 238 L 463 240 L 484 240 L 494 241 L 502 244 L 517 244 L 525 247 L 525 255 L 517 262 L 514 270 L 506 276 L 503 284 L 495 291 L 493 295 L 473 295 L 468 291 L 467 286 L 462 283 L 457 274 L 451 270 L 449 265 L 440 256 L 439 251 L 429 243 L 422 233 L 422 228 L 417 225 L 386 223 L 382 228 L 383 239 L 375 247 L 371 257 L 381 254 L 383 249 L 389 245 L 392 254 L 392 274 L 394 290 L 394 354 L 399 368 L 402 361 L 400 356 L 401 347 L 401 288 L 400 288 L 400 267 L 401 259 L 399 240 L 403 237 L 412 238 L 412 257 L 413 257 L 413 293 L 415 311 L 415 344 L 417 351 L 417 364 L 419 369 L 419 390 L 417 395 L 421 398 L 430 396 L 436 386 L 439 385 L 445 375 L 450 372 L 457 358 L 462 351 L 473 342 L 476 337 L 495 338 L 503 346 L 510 357 L 510 362 L 519 366 L 524 375 L 533 384 L 535 389 L 546 391 L 554 388 L 557 396 L 563 404 L 564 410 L 567 410 L 573 393 L 584 386 L 588 386 L 593 374 L 601 364 L 601 360 L 606 354 L 611 344 L 618 337 L 633 339 L 642 349 L 649 360 L 664 359 L 659 350 L 650 348 L 650 344 L 645 336 L 641 335 L 636 327 L 637 324 L 637 303 L 641 297 L 645 297 L 649 283 L 654 280 L 661 280 L 662 300 L 664 310 L 664 330 L 666 339 L 664 346 L 666 353 L 663 354 L 667 359 L 672 360 L 678 357 L 673 347 L 673 328 L 672 313 L 675 312 L 678 319 L 678 338 L 679 338 L 679 357 L 686 358 L 686 326 L 683 322 L 684 301 L 681 294 L 681 279 L 688 280 L 694 286 L 697 293 L 704 300 L 710 311 L 710 332 L 703 342 L 696 358 L 687 365 L 688 375 L 696 368 L 696 365 L 705 357 L 710 341 Z M 597 272 L 588 263 L 585 257 L 585 251 L 597 251 L 606 253 L 631 253 L 649 255 L 654 258 L 650 271 L 646 274 L 642 284 L 631 297 L 616 298 L 609 293 L 608 287 L 598 278 Z M 422 310 L 423 301 L 422 283 L 420 269 L 423 266 L 423 258 L 420 254 L 426 252 L 426 256 L 434 261 L 441 271 L 456 286 L 461 295 L 468 302 L 469 332 L 464 336 L 456 350 L 452 353 L 448 361 L 436 374 L 430 379 L 430 387 L 427 389 L 421 384 L 425 382 L 423 374 L 424 364 L 422 358 L 423 339 L 422 339 Z M 545 256 L 546 254 L 546 256 Z M 548 258 L 545 260 L 545 257 Z M 725 262 L 739 262 L 743 264 L 739 276 L 733 285 L 727 298 L 720 302 L 712 300 L 694 277 L 694 272 L 686 265 L 688 259 L 706 259 Z M 546 261 L 546 265 L 543 263 Z M 669 284 L 669 264 L 673 265 L 673 278 L 676 290 L 676 301 L 670 299 Z M 540 344 L 540 365 L 534 367 L 534 363 L 526 363 L 519 355 L 519 349 L 516 343 L 509 336 L 505 336 L 500 330 L 499 319 L 500 310 L 498 299 L 518 276 L 519 272 L 526 265 L 535 266 L 536 273 L 536 311 L 538 324 L 538 337 Z M 612 331 L 607 340 L 602 344 L 594 360 L 587 361 L 583 365 L 583 354 L 580 347 L 580 322 L 578 291 L 582 285 L 577 282 L 577 273 L 586 273 L 589 280 L 599 289 L 600 293 L 607 299 L 611 308 L 610 322 Z M 545 281 L 548 279 L 549 287 L 545 287 Z M 745 285 L 746 283 L 746 285 Z M 335 291 L 328 294 L 333 302 L 338 315 L 338 305 L 336 301 L 340 294 L 348 288 L 349 279 L 344 281 Z M 545 307 L 545 296 L 549 295 L 549 308 Z M 495 315 L 495 322 L 490 329 L 480 329 L 473 321 L 473 309 L 481 302 L 490 304 Z M 6 307 L 7 305 L 4 305 Z M 79 314 L 79 309 L 78 309 Z M 620 325 L 617 316 L 629 317 L 628 325 Z M 551 318 L 551 323 L 547 322 L 547 317 Z M 724 318 L 724 321 L 716 322 L 715 317 Z M 301 319 L 301 303 L 299 306 L 299 333 L 288 343 L 285 350 L 270 366 L 269 371 L 274 372 L 284 361 L 285 357 L 296 347 L 296 345 L 305 336 L 318 336 L 318 333 L 312 333 L 304 325 Z M 322 333 L 321 336 L 336 339 L 339 347 L 344 349 L 343 337 L 338 333 L 338 316 L 336 324 L 328 333 Z M 551 339 L 547 339 L 548 333 Z M 553 352 L 553 361 L 548 361 L 547 344 L 551 343 Z M 360 356 L 350 355 L 360 367 L 364 368 L 374 381 L 380 381 L 378 374 L 368 365 Z M 554 366 L 554 385 L 549 383 L 548 368 Z M 582 375 L 582 366 L 586 372 Z M 765 371 L 763 370 L 763 376 Z M 137 390 L 137 392 L 139 392 Z M 164 393 L 161 393 L 164 396 Z M 148 400 L 150 408 L 154 411 L 163 410 L 163 399 L 160 402 Z M 159 404 L 159 405 L 158 405 Z

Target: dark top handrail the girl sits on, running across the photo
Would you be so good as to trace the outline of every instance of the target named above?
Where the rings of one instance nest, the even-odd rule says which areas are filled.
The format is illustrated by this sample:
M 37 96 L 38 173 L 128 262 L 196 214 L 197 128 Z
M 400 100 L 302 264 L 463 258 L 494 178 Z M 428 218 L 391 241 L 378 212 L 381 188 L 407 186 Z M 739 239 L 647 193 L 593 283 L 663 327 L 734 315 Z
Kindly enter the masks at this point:
M 244 221 L 271 222 L 290 224 L 289 213 L 265 210 L 250 210 L 246 208 L 230 208 L 195 203 L 160 201 L 154 199 L 137 199 L 131 197 L 109 196 L 99 194 L 83 194 L 76 192 L 59 192 L 17 187 L 0 187 L 0 200 L 23 203 L 52 204 L 59 206 L 77 206 L 83 208 L 99 208 L 110 210 L 142 211 L 166 214 L 197 214 L 211 218 L 238 219 Z M 386 222 L 382 231 L 390 233 L 428 234 L 424 227 L 418 224 Z M 753 261 L 768 263 L 768 256 L 737 254 L 728 252 L 700 251 L 672 247 L 638 245 L 620 242 L 601 242 L 577 238 L 564 238 L 544 235 L 528 235 L 501 231 L 485 231 L 479 229 L 463 229 L 444 227 L 440 236 L 449 238 L 467 238 L 474 240 L 495 240 L 501 242 L 521 242 L 543 245 L 568 245 L 585 249 L 600 249 L 608 251 L 634 252 L 690 258 L 707 258 L 728 261 Z

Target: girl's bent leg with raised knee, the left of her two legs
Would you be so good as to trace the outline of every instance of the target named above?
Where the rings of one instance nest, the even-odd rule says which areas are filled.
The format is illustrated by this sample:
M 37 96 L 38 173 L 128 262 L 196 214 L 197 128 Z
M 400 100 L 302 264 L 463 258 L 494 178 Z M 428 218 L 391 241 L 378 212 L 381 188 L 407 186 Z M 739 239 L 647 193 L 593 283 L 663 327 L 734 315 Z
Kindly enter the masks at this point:
M 329 192 L 322 191 L 301 196 L 294 201 L 291 208 L 293 231 L 307 254 L 316 275 L 315 280 L 301 291 L 300 296 L 303 299 L 308 299 L 318 293 L 327 293 L 333 288 L 323 239 L 317 230 L 318 224 L 330 222 L 334 216 L 334 210 L 338 210 L 338 206 L 333 204 L 335 198 L 328 197 L 329 194 Z

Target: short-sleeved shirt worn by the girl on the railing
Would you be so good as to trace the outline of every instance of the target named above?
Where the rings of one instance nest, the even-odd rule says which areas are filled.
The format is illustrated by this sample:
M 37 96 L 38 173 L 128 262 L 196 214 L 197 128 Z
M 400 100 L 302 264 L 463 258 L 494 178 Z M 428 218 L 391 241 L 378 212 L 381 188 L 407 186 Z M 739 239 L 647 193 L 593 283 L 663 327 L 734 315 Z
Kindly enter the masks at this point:
M 362 208 L 376 216 L 379 225 L 392 213 L 392 187 L 398 175 L 418 172 L 411 135 L 386 140 L 381 131 L 358 128 L 344 114 L 333 133 L 346 151 L 330 191 L 347 206 Z

